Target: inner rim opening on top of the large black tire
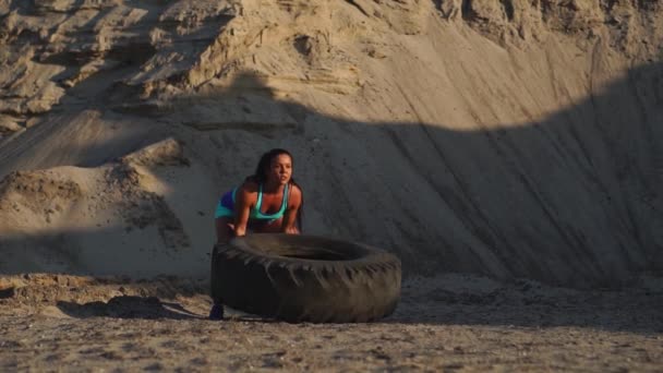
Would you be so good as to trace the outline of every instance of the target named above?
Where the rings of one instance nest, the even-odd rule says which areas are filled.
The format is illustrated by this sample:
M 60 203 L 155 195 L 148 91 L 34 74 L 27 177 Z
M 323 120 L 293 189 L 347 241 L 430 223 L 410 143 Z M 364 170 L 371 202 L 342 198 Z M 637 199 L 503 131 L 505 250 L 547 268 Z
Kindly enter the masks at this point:
M 365 250 L 351 242 L 311 236 L 251 234 L 242 238 L 252 250 L 269 255 L 310 261 L 352 261 Z

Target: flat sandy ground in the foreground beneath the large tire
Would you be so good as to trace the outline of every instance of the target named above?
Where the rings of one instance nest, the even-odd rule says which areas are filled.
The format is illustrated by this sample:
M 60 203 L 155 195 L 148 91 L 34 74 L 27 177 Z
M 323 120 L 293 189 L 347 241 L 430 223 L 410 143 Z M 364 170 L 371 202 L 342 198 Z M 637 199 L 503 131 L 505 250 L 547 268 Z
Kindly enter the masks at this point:
M 205 318 L 204 280 L 3 278 L 0 370 L 661 371 L 663 287 L 577 291 L 449 275 L 410 279 L 388 318 Z M 13 288 L 7 284 L 14 284 Z M 9 290 L 13 289 L 13 290 Z

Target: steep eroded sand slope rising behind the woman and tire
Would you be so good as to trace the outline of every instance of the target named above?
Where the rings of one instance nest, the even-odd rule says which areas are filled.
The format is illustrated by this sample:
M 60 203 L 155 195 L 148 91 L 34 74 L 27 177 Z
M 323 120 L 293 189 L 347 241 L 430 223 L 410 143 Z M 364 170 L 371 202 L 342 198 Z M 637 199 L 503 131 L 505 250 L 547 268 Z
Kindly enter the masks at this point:
M 663 3 L 535 3 L 0 1 L 0 272 L 204 274 L 277 146 L 406 275 L 661 270 Z

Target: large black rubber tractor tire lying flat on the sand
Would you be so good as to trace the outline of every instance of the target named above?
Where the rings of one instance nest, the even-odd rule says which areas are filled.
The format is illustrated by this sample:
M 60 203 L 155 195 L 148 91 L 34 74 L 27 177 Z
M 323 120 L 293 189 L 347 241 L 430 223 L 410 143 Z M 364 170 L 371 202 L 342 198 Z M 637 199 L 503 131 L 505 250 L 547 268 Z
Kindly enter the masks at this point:
M 400 278 L 393 254 L 312 236 L 250 234 L 212 255 L 214 300 L 293 323 L 385 317 L 398 303 Z

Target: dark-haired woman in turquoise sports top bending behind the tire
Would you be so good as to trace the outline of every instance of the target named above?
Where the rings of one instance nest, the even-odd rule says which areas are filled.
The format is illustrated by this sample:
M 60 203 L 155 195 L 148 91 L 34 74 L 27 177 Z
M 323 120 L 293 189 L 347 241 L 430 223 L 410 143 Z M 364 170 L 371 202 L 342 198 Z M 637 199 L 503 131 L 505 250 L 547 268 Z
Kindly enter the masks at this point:
M 215 214 L 217 243 L 248 230 L 299 234 L 302 205 L 302 190 L 292 178 L 292 155 L 272 149 L 263 154 L 253 176 L 220 198 Z M 224 318 L 221 300 L 214 300 L 209 318 Z

